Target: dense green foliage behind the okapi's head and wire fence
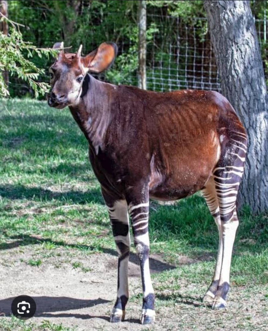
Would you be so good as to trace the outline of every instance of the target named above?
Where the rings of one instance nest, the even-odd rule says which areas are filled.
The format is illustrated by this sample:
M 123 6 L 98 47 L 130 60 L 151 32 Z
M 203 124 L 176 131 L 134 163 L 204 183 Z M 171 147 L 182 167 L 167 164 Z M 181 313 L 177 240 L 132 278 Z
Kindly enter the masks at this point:
M 267 4 L 268 1 L 251 1 L 255 18 L 264 19 Z M 100 79 L 113 83 L 137 84 L 137 0 L 14 0 L 8 1 L 8 6 L 9 18 L 25 25 L 20 29 L 23 40 L 32 42 L 36 47 L 52 47 L 56 41 L 64 41 L 65 46 L 72 46 L 72 50 L 76 51 L 82 43 L 83 52 L 86 54 L 103 41 L 116 42 L 119 48 L 118 57 L 111 70 L 105 72 L 105 76 L 102 74 Z M 159 52 L 158 56 L 163 56 L 161 45 L 174 34 L 170 21 L 165 20 L 167 15 L 179 17 L 181 26 L 186 23 L 197 24 L 199 37 L 203 35 L 205 38 L 208 34 L 206 20 L 203 24 L 193 20 L 195 17 L 205 18 L 203 1 L 148 0 L 147 64 L 149 68 L 152 62 L 150 47 L 154 46 Z M 158 34 L 159 24 L 164 26 L 161 35 Z M 156 36 L 154 40 L 153 34 Z M 262 57 L 268 72 L 266 45 L 262 46 Z M 155 56 L 157 58 L 157 54 Z M 32 60 L 38 68 L 46 71 L 52 61 L 51 58 L 39 58 L 36 55 Z M 180 64 L 181 67 L 184 65 Z M 39 79 L 47 82 L 47 72 L 41 74 Z M 9 90 L 11 96 L 34 94 L 29 86 L 16 77 L 11 78 Z

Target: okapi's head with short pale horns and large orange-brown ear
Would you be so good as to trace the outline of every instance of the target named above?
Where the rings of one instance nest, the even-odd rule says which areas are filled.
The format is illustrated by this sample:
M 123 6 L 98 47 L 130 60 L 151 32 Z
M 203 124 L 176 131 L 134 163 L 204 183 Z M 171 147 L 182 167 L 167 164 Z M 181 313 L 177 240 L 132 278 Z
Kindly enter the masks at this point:
M 109 68 L 117 54 L 117 46 L 111 42 L 100 44 L 86 56 L 81 56 L 82 45 L 76 53 L 64 53 L 63 42 L 55 43 L 53 48 L 61 50 L 49 69 L 51 91 L 48 104 L 58 109 L 77 105 L 87 73 L 100 73 Z

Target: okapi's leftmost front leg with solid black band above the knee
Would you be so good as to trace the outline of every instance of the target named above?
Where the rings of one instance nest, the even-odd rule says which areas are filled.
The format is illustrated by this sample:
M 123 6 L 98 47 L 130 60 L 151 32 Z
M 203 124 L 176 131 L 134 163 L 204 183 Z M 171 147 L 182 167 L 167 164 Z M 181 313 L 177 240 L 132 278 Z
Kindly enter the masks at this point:
M 102 190 L 112 225 L 118 252 L 117 298 L 112 309 L 110 322 L 120 322 L 125 318 L 125 308 L 129 298 L 128 260 L 130 253 L 130 233 L 128 205 L 126 200 L 112 198 Z

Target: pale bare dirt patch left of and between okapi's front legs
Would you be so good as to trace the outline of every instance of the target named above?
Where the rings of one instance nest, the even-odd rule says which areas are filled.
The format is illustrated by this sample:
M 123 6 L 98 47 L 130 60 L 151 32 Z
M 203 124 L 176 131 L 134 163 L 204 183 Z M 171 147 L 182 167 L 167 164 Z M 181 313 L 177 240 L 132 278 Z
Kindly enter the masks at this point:
M 12 251 L 16 259 L 12 261 Z M 51 263 L 33 267 L 20 260 L 27 255 L 12 249 L 5 254 L 5 263 L 0 265 L 1 299 L 0 313 L 8 316 L 11 303 L 18 295 L 31 296 L 37 305 L 34 322 L 49 319 L 51 323 L 76 326 L 77 330 L 118 330 L 118 325 L 109 323 L 109 315 L 116 298 L 117 257 L 110 254 L 94 254 L 87 258 L 86 265 L 92 271 L 83 273 L 66 265 L 55 268 Z M 21 256 L 20 256 L 21 255 Z M 7 257 L 9 257 L 7 259 Z M 130 293 L 141 289 L 137 260 L 132 256 L 129 263 Z M 152 271 L 165 268 L 165 263 L 152 259 Z M 125 329 L 141 330 L 139 325 L 140 305 L 129 304 L 127 321 L 120 323 Z

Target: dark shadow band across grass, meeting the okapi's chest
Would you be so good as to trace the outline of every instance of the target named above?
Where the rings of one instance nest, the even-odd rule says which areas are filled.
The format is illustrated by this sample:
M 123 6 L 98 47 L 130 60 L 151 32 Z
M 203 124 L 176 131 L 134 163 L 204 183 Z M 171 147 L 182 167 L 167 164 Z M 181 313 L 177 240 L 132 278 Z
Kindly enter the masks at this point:
M 89 202 L 104 205 L 100 188 L 91 188 L 86 192 L 70 190 L 67 192 L 54 192 L 41 187 L 27 187 L 24 185 L 2 185 L 0 195 L 11 200 L 28 199 L 32 201 L 71 200 L 75 204 L 84 205 Z

